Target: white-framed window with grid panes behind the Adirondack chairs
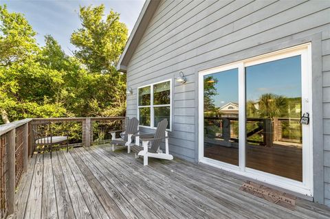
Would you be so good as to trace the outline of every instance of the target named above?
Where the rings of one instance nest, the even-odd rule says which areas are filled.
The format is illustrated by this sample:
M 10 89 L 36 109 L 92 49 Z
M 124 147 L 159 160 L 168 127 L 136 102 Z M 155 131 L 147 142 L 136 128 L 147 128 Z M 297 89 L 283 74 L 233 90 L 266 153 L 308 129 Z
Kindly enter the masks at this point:
M 162 119 L 167 119 L 170 130 L 171 119 L 171 81 L 157 82 L 138 89 L 138 117 L 140 126 L 155 128 Z

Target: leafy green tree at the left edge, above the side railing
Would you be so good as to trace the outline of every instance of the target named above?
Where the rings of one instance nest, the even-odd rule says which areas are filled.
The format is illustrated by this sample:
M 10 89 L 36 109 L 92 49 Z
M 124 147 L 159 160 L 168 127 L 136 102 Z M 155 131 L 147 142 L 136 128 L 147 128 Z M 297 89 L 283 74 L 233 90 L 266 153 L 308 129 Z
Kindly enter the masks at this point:
M 57 71 L 39 62 L 41 49 L 23 14 L 0 5 L 0 111 L 4 123 L 24 117 L 65 115 L 52 87 L 63 84 Z

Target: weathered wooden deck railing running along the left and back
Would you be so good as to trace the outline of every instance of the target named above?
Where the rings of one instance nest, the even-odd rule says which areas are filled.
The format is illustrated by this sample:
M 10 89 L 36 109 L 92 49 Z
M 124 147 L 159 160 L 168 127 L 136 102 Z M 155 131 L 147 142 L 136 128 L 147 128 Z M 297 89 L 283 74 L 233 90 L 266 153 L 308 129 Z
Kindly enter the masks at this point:
M 69 146 L 88 147 L 107 142 L 107 132 L 122 129 L 125 119 L 126 117 L 36 118 L 1 125 L 0 218 L 15 211 L 15 190 L 23 173 L 28 170 L 29 154 L 32 154 L 32 124 L 51 122 L 56 131 L 69 133 Z

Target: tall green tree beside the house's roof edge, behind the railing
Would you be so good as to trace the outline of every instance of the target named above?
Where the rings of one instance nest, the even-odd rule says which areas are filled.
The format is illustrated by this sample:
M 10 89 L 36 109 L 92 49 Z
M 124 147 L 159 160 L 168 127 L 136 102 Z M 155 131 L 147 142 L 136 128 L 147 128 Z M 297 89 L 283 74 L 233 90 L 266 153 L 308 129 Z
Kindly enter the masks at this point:
M 78 48 L 74 54 L 94 74 L 86 78 L 85 107 L 93 114 L 124 115 L 126 75 L 115 65 L 127 40 L 127 27 L 113 10 L 104 19 L 104 5 L 80 7 L 79 17 L 83 27 L 71 36 Z

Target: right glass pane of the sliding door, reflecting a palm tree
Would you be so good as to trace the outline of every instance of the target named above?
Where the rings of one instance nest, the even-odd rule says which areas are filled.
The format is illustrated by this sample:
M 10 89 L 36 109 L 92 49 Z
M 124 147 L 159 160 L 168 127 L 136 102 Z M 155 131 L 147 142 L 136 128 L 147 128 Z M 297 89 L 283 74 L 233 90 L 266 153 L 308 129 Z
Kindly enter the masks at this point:
M 301 56 L 245 67 L 246 167 L 303 181 Z

